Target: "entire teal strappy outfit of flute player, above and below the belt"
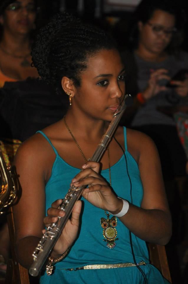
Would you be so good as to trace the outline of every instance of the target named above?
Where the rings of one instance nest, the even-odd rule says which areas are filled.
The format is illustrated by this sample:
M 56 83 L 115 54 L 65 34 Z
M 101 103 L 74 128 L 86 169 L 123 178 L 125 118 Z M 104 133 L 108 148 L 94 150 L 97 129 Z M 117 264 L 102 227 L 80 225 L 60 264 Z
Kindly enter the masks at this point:
M 41 132 L 52 146 L 56 154 L 52 166 L 50 179 L 46 184 L 46 210 L 51 207 L 52 202 L 62 199 L 67 193 L 72 178 L 80 172 L 80 169 L 67 164 L 57 153 L 47 136 Z M 140 172 L 135 159 L 127 151 L 126 128 L 124 127 L 125 155 L 111 167 L 112 188 L 117 196 L 131 202 L 131 184 L 133 204 L 141 206 L 143 198 L 143 186 Z M 126 161 L 127 160 L 127 161 Z M 127 167 L 126 167 L 127 163 Z M 128 172 L 127 172 L 128 168 Z M 131 178 L 131 183 L 128 178 Z M 109 182 L 109 172 L 103 170 L 101 175 Z M 117 269 L 93 269 L 69 271 L 67 268 L 82 267 L 89 264 L 116 264 L 134 262 L 131 252 L 129 230 L 117 218 L 116 246 L 109 249 L 103 241 L 103 228 L 100 218 L 106 218 L 104 210 L 90 204 L 81 197 L 82 216 L 78 237 L 71 247 L 70 253 L 61 262 L 55 264 L 54 273 L 50 276 L 42 272 L 40 284 L 144 284 L 143 274 L 137 267 L 125 267 Z M 110 216 L 111 218 L 112 216 Z M 149 264 L 148 250 L 145 241 L 132 234 L 133 250 L 136 262 L 144 260 L 147 265 L 140 266 L 147 278 L 147 284 L 169 284 L 153 265 Z

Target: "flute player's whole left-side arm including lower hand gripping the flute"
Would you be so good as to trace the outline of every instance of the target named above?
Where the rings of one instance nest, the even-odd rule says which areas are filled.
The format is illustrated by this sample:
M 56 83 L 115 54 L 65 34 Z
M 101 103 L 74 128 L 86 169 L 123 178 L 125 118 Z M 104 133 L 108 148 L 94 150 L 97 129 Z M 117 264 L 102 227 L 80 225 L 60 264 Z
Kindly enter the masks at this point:
M 20 146 L 15 156 L 21 191 L 19 202 L 13 207 L 16 253 L 18 261 L 26 268 L 33 262 L 33 251 L 42 237 L 45 225 L 55 222 L 65 212 L 57 209 L 61 201 L 52 204 L 45 217 L 45 183 L 50 177 L 55 154 L 44 138 L 35 135 Z M 67 222 L 51 256 L 64 253 L 77 236 L 81 202 L 75 206 L 72 219 Z M 53 217 L 52 217 L 53 215 Z

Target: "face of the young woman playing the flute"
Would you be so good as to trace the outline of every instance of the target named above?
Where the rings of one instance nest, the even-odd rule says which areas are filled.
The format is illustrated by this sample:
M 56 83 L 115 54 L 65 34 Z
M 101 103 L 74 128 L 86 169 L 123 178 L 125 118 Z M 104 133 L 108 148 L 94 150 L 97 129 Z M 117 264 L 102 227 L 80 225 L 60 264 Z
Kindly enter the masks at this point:
M 124 66 L 117 50 L 102 49 L 81 72 L 72 106 L 93 119 L 110 121 L 125 95 Z

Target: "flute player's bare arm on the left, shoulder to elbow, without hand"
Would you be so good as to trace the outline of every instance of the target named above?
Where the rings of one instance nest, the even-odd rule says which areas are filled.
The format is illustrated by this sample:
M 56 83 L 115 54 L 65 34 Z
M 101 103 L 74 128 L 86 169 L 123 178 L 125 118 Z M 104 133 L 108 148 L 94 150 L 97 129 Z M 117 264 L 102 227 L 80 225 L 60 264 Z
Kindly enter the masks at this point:
M 31 265 L 32 253 L 42 237 L 45 214 L 42 153 L 38 153 L 33 140 L 23 143 L 14 159 L 20 183 L 20 198 L 13 206 L 15 245 L 18 261 L 26 268 Z

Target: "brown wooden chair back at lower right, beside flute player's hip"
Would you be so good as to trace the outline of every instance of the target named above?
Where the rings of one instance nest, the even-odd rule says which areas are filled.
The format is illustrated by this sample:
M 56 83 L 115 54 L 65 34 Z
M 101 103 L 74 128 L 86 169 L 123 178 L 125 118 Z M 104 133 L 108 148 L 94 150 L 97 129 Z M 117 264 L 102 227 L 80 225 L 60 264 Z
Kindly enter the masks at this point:
M 172 283 L 165 246 L 159 246 L 153 243 L 148 243 L 147 245 L 151 264 L 153 264 L 161 272 L 164 278 Z

